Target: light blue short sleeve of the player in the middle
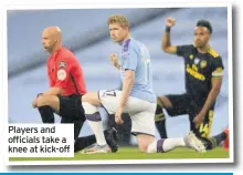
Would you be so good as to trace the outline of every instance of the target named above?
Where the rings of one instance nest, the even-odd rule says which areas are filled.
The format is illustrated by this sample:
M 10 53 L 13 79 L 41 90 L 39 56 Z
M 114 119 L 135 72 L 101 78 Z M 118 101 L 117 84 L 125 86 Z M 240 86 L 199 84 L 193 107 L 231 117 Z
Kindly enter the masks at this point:
M 124 70 L 131 70 L 131 71 L 136 70 L 138 62 L 138 54 L 135 51 L 135 49 L 129 49 L 127 54 L 125 54 L 123 59 L 124 59 L 124 64 L 123 64 Z

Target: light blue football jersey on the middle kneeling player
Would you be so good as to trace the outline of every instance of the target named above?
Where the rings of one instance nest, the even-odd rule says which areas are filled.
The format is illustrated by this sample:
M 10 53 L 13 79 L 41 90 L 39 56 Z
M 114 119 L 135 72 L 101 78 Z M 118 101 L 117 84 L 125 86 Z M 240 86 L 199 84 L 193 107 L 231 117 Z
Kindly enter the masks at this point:
M 126 70 L 135 71 L 135 81 L 130 96 L 156 103 L 156 94 L 152 89 L 151 60 L 148 49 L 142 43 L 130 38 L 123 43 L 118 58 L 122 65 L 122 80 L 125 78 Z

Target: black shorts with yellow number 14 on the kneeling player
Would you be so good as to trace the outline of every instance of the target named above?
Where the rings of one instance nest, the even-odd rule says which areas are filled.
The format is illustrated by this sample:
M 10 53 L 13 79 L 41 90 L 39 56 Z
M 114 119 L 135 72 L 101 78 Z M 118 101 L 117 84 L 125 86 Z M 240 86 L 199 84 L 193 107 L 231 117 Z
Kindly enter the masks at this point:
M 203 106 L 198 105 L 198 103 L 193 101 L 190 94 L 187 93 L 180 95 L 166 95 L 166 97 L 168 97 L 172 104 L 172 107 L 166 109 L 170 116 L 188 114 L 190 121 L 190 130 L 193 131 L 199 137 L 209 137 L 212 126 L 214 105 L 207 112 L 203 124 L 196 128 L 193 119 Z

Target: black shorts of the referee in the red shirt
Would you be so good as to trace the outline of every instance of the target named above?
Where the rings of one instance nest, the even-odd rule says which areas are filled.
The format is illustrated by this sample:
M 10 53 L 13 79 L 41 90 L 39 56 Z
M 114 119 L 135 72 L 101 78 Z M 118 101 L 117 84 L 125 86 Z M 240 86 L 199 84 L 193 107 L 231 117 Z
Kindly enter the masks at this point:
M 86 120 L 84 109 L 81 103 L 82 95 L 62 96 L 57 95 L 60 100 L 60 116 L 61 123 L 84 122 Z

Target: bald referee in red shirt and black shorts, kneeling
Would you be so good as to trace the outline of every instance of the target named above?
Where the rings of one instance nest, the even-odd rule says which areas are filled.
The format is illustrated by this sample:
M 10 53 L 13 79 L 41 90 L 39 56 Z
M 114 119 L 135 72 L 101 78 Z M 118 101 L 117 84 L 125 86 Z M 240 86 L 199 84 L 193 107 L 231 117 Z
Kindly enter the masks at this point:
M 42 44 L 50 53 L 47 59 L 47 75 L 50 89 L 38 94 L 32 106 L 38 107 L 43 123 L 54 123 L 54 113 L 62 117 L 61 123 L 74 123 L 74 140 L 76 141 L 86 120 L 81 97 L 86 91 L 83 70 L 75 55 L 62 47 L 62 31 L 59 27 L 49 27 L 42 33 Z M 116 131 L 105 131 L 107 143 L 117 151 Z M 78 138 L 78 150 L 96 142 L 95 136 Z M 77 144 L 77 143 L 76 143 Z

